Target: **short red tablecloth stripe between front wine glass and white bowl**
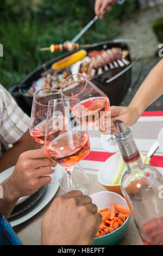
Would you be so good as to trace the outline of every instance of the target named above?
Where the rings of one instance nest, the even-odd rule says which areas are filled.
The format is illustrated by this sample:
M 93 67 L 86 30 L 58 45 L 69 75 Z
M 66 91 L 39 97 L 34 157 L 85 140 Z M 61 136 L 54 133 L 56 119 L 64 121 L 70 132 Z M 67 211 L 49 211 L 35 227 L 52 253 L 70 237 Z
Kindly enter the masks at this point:
M 84 158 L 84 160 L 105 162 L 110 156 L 112 156 L 114 154 L 115 153 L 108 153 L 108 152 L 101 152 L 101 151 L 90 151 L 90 154 L 87 155 Z

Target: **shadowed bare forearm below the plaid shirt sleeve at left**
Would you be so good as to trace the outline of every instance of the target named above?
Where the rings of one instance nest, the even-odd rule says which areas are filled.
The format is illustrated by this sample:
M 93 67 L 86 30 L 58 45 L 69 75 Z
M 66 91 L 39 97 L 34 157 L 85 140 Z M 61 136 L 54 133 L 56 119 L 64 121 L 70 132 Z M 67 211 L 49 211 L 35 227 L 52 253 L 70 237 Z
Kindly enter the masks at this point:
M 27 131 L 16 143 L 14 143 L 12 148 L 10 148 L 1 157 L 0 173 L 11 166 L 15 166 L 18 157 L 24 151 L 39 148 L 41 148 L 41 145 L 39 143 L 36 143 L 34 139 L 30 136 L 29 131 Z

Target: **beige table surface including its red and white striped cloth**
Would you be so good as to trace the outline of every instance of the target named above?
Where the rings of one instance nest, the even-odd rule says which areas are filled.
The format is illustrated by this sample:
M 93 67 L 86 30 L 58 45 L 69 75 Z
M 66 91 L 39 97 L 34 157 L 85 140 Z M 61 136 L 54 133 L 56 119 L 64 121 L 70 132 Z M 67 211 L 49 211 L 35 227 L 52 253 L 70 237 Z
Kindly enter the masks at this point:
M 130 127 L 139 150 L 147 154 L 152 144 L 158 137 L 158 133 L 163 126 L 163 111 L 145 112 L 139 118 L 137 123 Z M 106 189 L 99 184 L 97 174 L 104 161 L 106 161 L 112 154 L 107 153 L 101 147 L 99 131 L 89 131 L 91 152 L 80 161 L 81 166 L 89 175 L 91 179 L 91 188 L 88 195 L 99 191 L 106 191 Z M 163 175 L 163 153 L 160 149 L 156 150 L 152 156 L 151 164 L 158 167 Z M 54 198 L 62 194 L 60 188 L 55 194 Z M 30 220 L 14 227 L 18 237 L 23 245 L 41 245 L 41 221 L 42 217 L 52 204 L 53 199 L 48 205 L 43 208 L 38 214 L 30 218 Z M 130 218 L 129 228 L 126 235 L 118 243 L 118 245 L 142 245 L 139 233 L 135 227 L 133 218 Z

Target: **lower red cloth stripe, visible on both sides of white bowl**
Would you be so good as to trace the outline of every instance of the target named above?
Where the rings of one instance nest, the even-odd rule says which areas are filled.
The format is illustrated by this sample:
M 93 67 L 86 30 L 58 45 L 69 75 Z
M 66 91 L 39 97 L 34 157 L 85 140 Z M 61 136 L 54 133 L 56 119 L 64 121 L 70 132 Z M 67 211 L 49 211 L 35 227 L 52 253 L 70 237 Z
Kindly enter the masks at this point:
M 90 151 L 90 154 L 87 155 L 84 160 L 105 162 L 110 156 L 114 154 L 115 153 L 108 153 L 102 151 Z M 163 156 L 152 156 L 150 164 L 155 167 L 163 167 Z

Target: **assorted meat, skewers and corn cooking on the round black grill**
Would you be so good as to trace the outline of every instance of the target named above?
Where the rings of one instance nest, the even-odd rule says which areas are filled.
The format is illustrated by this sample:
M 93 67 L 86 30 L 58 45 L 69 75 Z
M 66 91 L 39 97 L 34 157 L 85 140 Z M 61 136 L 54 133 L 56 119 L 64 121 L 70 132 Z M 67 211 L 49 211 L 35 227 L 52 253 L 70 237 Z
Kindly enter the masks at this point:
M 72 43 L 68 42 L 64 45 L 51 45 L 53 51 L 62 50 L 62 47 L 73 47 Z M 127 50 L 122 50 L 118 47 L 112 47 L 106 50 L 93 50 L 86 52 L 79 50 L 70 56 L 67 56 L 52 65 L 52 68 L 43 71 L 41 78 L 32 84 L 32 87 L 27 91 L 27 95 L 33 95 L 40 88 L 54 87 L 61 88 L 62 82 L 67 76 L 75 73 L 82 73 L 87 78 L 92 79 L 95 76 L 103 74 L 109 69 L 118 68 L 128 65 L 126 60 Z

